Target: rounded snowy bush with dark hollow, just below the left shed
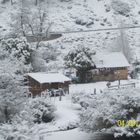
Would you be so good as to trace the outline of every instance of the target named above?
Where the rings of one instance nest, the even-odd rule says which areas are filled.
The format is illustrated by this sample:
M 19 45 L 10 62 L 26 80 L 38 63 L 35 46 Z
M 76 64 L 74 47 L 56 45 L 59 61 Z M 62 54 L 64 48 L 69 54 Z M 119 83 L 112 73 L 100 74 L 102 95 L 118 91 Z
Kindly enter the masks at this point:
M 15 116 L 14 120 L 29 123 L 50 122 L 53 119 L 55 106 L 45 97 L 29 98 L 24 103 L 24 108 Z

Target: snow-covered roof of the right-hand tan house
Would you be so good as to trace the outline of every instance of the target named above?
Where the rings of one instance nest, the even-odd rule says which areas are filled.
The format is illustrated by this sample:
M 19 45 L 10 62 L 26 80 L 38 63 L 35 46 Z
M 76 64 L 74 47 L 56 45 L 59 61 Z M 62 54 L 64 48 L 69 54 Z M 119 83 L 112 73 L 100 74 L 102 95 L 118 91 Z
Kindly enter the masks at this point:
M 121 52 L 111 52 L 108 54 L 97 54 L 93 57 L 97 68 L 129 67 L 129 63 Z

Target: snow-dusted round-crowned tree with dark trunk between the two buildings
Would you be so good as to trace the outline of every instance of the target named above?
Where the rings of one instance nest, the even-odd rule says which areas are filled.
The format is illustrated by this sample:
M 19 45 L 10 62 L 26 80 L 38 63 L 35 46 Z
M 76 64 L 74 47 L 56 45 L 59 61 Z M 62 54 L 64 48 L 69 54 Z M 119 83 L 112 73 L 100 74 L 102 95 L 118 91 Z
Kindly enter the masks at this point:
M 90 48 L 79 46 L 65 56 L 65 65 L 68 68 L 75 68 L 77 70 L 80 82 L 85 82 L 85 72 L 94 66 L 92 60 L 94 54 L 95 51 Z

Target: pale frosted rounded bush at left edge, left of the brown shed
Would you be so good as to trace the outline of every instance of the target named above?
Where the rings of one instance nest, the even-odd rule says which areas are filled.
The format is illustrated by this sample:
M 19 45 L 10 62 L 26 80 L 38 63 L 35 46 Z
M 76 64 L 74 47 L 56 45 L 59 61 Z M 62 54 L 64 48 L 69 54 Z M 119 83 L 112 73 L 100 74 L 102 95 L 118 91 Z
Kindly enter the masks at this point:
M 17 78 L 17 79 L 16 79 Z M 0 73 L 0 122 L 10 121 L 20 110 L 25 98 L 26 88 L 21 86 L 18 77 Z M 17 108 L 18 105 L 18 108 Z

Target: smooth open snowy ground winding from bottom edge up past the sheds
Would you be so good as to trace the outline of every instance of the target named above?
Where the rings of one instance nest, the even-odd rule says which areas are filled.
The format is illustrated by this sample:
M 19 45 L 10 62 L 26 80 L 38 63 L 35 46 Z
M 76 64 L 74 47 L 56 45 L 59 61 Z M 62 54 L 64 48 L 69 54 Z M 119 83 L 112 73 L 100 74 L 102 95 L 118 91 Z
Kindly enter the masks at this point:
M 117 82 L 118 81 L 113 82 L 112 84 L 116 85 Z M 122 84 L 130 82 L 133 81 L 121 81 Z M 137 86 L 139 86 L 138 83 Z M 75 92 L 85 92 L 85 94 L 88 94 L 93 91 L 94 88 L 96 88 L 97 92 L 100 92 L 100 90 L 106 88 L 106 82 L 71 85 L 70 94 L 62 97 L 62 101 L 59 101 L 59 97 L 52 98 L 51 101 L 57 106 L 57 111 L 54 114 L 55 120 L 50 123 L 49 126 L 47 124 L 46 129 L 44 127 L 40 127 L 43 129 L 40 129 L 39 135 L 37 134 L 34 136 L 34 139 L 38 140 L 39 137 L 43 137 L 44 140 L 104 140 L 105 137 L 100 133 L 86 133 L 80 131 L 79 128 L 65 130 L 65 128 L 70 124 L 75 124 L 79 121 L 78 113 L 80 111 L 80 106 L 71 102 L 72 94 Z M 109 139 L 112 140 L 112 138 Z

